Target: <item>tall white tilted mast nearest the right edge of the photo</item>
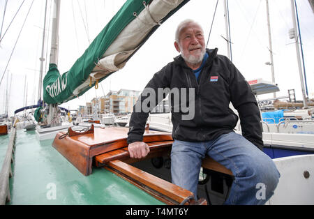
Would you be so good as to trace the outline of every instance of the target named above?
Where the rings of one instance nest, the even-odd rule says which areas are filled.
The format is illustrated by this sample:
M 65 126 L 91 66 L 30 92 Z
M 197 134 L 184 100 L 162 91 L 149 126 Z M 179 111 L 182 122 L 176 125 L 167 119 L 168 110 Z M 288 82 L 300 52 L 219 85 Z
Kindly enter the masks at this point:
M 292 21 L 293 21 L 293 29 L 295 33 L 294 34 L 295 48 L 297 51 L 297 61 L 298 61 L 298 67 L 299 67 L 303 104 L 304 104 L 304 108 L 308 108 L 308 103 L 306 101 L 305 88 L 304 88 L 304 77 L 303 77 L 302 66 L 301 66 L 301 56 L 300 56 L 300 48 L 299 48 L 299 32 L 297 31 L 297 17 L 295 15 L 294 0 L 291 0 L 291 8 L 292 8 Z

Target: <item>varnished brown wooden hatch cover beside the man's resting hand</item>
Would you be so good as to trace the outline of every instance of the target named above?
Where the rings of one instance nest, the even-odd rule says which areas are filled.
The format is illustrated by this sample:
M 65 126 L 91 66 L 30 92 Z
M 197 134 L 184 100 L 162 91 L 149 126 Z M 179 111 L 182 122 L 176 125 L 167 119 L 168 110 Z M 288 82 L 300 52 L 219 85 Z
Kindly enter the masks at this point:
M 68 133 L 57 133 L 52 146 L 82 174 L 88 176 L 92 172 L 92 161 L 95 156 L 128 146 L 127 134 L 128 128 L 121 127 L 94 128 L 92 125 L 84 133 L 69 128 Z M 171 133 L 152 130 L 144 132 L 143 142 L 165 141 L 172 141 Z

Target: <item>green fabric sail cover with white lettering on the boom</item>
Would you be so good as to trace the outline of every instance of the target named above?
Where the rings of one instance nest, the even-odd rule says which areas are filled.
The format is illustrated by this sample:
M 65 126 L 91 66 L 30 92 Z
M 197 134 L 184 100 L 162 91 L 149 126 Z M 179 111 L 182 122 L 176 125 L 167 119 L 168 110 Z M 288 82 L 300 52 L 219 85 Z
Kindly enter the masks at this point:
M 49 71 L 43 80 L 43 100 L 45 103 L 65 103 L 68 100 L 82 96 L 82 94 L 91 89 L 91 87 L 96 84 L 96 79 L 92 78 L 90 74 L 95 72 L 97 63 L 99 63 L 100 59 L 103 59 L 108 47 L 110 47 L 112 42 L 114 42 L 121 31 L 123 31 L 124 28 L 130 24 L 130 22 L 135 20 L 135 18 L 140 17 L 142 10 L 146 9 L 145 7 L 147 7 L 153 1 L 155 1 L 155 4 L 160 4 L 156 0 L 146 0 L 144 3 L 140 0 L 126 1 L 124 6 L 120 8 L 114 17 L 112 17 L 112 20 L 110 20 L 103 31 L 98 34 L 84 54 L 79 59 L 77 59 L 68 72 L 60 75 L 57 65 L 51 63 Z M 167 5 L 174 4 L 173 2 L 177 2 L 178 5 L 175 6 L 175 8 L 170 12 L 167 12 L 161 22 L 167 20 L 168 17 L 179 10 L 179 8 L 181 8 L 181 6 L 183 6 L 187 1 L 188 0 L 172 0 L 172 2 L 169 1 L 170 3 L 166 1 L 165 3 Z M 151 11 L 148 10 L 148 12 L 149 15 L 151 15 Z M 152 18 L 152 20 L 154 20 L 154 18 Z M 144 22 L 143 25 L 145 25 Z M 129 56 L 126 57 L 126 61 L 131 55 L 133 55 L 134 51 L 138 50 L 138 48 L 149 38 L 149 36 L 151 36 L 151 34 L 157 28 L 158 24 L 156 23 L 154 24 L 154 28 L 151 28 L 149 33 L 147 33 L 147 36 L 145 36 L 141 42 L 139 42 L 138 45 L 133 48 Z M 123 66 L 124 65 L 122 65 L 122 68 Z M 107 71 L 106 74 L 101 75 L 97 81 L 101 82 L 116 70 Z M 91 80 L 91 82 L 89 82 L 89 80 Z M 84 86 L 82 86 L 82 84 Z

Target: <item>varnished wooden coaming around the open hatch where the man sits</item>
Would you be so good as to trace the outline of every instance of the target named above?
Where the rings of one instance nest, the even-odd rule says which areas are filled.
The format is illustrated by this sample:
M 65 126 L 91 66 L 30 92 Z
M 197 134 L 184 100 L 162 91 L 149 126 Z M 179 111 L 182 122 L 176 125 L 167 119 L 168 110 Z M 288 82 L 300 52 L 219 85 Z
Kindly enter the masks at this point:
M 129 165 L 144 159 L 169 156 L 172 143 L 172 141 L 147 143 L 150 152 L 142 159 L 130 158 L 128 147 L 109 151 L 96 156 L 95 165 L 97 167 L 104 166 L 105 169 L 117 174 L 117 176 L 129 181 L 165 204 L 207 204 L 205 199 L 195 201 L 192 192 Z M 202 167 L 232 175 L 230 169 L 209 157 L 203 160 Z

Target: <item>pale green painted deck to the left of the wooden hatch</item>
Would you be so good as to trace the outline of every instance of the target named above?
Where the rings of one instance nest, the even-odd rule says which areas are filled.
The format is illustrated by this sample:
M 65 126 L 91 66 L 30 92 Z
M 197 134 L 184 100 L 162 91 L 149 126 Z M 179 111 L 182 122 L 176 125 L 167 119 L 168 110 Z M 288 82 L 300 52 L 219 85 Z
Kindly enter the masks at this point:
M 0 138 L 0 156 L 6 153 L 2 142 L 8 137 Z M 52 141 L 39 142 L 35 131 L 17 130 L 8 204 L 163 204 L 106 169 L 82 175 L 52 147 Z

